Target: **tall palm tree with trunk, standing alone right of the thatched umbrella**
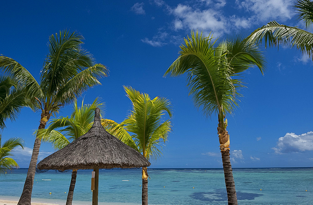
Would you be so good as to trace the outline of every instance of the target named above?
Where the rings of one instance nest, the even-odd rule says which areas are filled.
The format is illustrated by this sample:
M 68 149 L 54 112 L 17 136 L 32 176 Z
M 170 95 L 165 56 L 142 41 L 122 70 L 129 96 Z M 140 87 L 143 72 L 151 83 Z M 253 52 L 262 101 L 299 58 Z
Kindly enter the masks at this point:
M 228 204 L 237 204 L 237 195 L 229 158 L 229 134 L 226 130 L 226 114 L 238 106 L 244 87 L 239 77 L 251 66 L 259 67 L 263 74 L 264 56 L 258 47 L 241 36 L 220 42 L 214 48 L 212 37 L 191 33 L 180 46 L 179 57 L 167 69 L 164 76 L 187 74 L 189 95 L 196 107 L 208 117 L 218 114 L 218 137 L 223 160 Z M 225 119 L 225 120 L 224 120 Z

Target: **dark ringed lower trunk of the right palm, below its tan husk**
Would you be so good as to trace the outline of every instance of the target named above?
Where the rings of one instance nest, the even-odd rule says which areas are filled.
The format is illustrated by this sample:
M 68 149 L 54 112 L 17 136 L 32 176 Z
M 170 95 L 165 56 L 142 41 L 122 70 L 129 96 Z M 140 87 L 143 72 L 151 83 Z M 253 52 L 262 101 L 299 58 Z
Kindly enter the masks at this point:
M 225 176 L 225 185 L 227 190 L 228 204 L 237 205 L 237 194 L 235 189 L 235 181 L 233 177 L 232 165 L 230 164 L 229 150 L 221 150 L 223 169 Z

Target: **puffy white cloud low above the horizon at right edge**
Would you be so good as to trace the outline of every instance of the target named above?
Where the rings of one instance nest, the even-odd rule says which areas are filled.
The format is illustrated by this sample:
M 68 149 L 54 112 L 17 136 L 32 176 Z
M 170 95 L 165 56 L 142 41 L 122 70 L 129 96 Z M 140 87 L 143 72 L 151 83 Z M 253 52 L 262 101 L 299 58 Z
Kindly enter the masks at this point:
M 310 131 L 301 135 L 286 133 L 285 136 L 278 139 L 276 147 L 273 147 L 272 149 L 277 154 L 312 151 L 313 132 Z

